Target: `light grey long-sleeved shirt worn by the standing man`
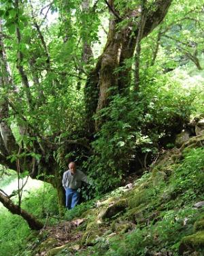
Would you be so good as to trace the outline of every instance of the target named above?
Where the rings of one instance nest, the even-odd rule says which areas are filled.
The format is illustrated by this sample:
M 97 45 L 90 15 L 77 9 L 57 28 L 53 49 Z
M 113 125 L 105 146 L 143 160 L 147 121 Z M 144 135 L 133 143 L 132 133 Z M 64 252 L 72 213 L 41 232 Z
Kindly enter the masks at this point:
M 62 182 L 64 188 L 81 188 L 82 182 L 89 183 L 87 176 L 80 170 L 76 170 L 74 175 L 70 170 L 65 171 Z

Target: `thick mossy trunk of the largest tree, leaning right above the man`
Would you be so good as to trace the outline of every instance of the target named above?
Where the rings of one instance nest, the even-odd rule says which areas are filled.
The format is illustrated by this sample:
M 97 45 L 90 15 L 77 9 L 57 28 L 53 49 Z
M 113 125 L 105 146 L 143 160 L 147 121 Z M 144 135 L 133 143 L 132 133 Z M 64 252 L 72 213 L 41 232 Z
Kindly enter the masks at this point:
M 143 26 L 142 34 L 139 35 L 139 41 L 146 37 L 154 28 L 156 28 L 169 9 L 172 0 L 157 0 L 152 4 L 151 8 L 147 10 L 146 22 L 141 24 Z M 87 106 L 87 111 L 90 115 L 95 112 L 99 112 L 105 106 L 107 106 L 109 96 L 116 93 L 116 91 L 126 91 L 130 84 L 130 70 L 131 67 L 125 66 L 126 59 L 133 57 L 135 51 L 135 45 L 137 42 L 137 37 L 139 33 L 139 23 L 133 23 L 131 20 L 133 16 L 139 18 L 141 15 L 139 12 L 139 5 L 135 6 L 135 10 L 129 10 L 126 14 L 126 18 L 130 22 L 122 29 L 117 29 L 116 24 L 118 23 L 118 16 L 113 13 L 114 0 L 109 0 L 109 7 L 111 8 L 111 18 L 109 21 L 109 33 L 107 36 L 107 43 L 105 45 L 104 51 L 99 57 L 99 61 L 96 68 L 92 70 L 90 76 L 88 77 L 88 82 L 86 83 L 85 96 L 91 97 L 93 92 L 99 90 L 99 98 L 96 105 L 96 100 L 94 104 Z M 135 30 L 135 27 L 137 29 Z M 141 30 L 141 29 L 140 29 Z M 116 68 L 122 67 L 120 72 L 116 72 Z M 114 87 L 113 89 L 110 89 Z M 90 94 L 87 93 L 90 91 Z M 88 100 L 86 99 L 88 102 Z M 90 127 L 93 127 L 92 115 L 88 117 L 88 123 Z M 95 129 L 99 129 L 99 121 L 95 122 Z M 93 130 L 93 128 L 92 128 Z

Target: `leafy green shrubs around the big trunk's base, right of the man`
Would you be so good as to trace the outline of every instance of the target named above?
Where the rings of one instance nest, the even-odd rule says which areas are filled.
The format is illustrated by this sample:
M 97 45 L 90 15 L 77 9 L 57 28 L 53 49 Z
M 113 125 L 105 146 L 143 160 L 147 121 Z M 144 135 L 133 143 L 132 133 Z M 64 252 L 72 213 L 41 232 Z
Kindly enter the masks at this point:
M 194 109 L 194 91 L 185 90 L 171 76 L 158 74 L 152 79 L 152 73 L 146 71 L 142 79 L 139 101 L 135 102 L 133 96 L 116 95 L 96 117 L 107 121 L 92 143 L 95 155 L 86 165 L 98 193 L 120 184 L 131 162 L 136 162 L 135 171 L 146 167 L 144 156 L 154 156 L 163 139 L 168 141 L 180 132 Z

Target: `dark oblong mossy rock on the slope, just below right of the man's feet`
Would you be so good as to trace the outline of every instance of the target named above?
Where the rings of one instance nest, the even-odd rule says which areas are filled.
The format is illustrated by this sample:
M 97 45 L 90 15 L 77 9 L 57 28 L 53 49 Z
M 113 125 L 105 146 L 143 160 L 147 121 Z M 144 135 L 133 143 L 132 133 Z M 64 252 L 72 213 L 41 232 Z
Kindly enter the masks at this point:
M 126 199 L 121 199 L 117 201 L 116 203 L 113 203 L 112 205 L 109 205 L 107 208 L 103 209 L 99 213 L 99 218 L 105 219 L 105 218 L 111 218 L 118 214 L 119 212 L 122 212 L 126 209 L 127 203 Z

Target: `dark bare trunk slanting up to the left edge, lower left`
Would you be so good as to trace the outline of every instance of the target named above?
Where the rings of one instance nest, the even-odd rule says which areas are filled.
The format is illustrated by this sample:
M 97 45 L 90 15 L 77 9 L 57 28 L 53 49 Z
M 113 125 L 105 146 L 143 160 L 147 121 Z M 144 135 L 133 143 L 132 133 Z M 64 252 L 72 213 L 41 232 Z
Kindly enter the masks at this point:
M 37 219 L 32 215 L 29 214 L 29 212 L 22 210 L 18 207 L 18 205 L 14 204 L 10 198 L 3 195 L 3 193 L 0 192 L 0 201 L 3 203 L 5 208 L 7 208 L 12 214 L 18 214 L 19 216 L 22 216 L 25 221 L 27 221 L 29 227 L 31 229 L 39 230 L 42 227 L 44 227 L 44 224 L 40 221 L 37 221 Z

